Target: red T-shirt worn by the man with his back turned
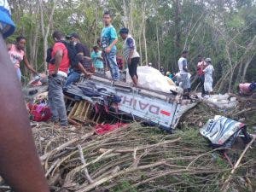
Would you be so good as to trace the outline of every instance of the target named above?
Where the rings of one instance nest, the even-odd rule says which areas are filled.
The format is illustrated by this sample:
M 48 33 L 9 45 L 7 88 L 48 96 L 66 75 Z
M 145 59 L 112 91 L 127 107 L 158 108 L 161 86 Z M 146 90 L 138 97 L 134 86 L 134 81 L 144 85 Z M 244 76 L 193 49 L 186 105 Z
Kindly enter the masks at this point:
M 59 71 L 67 73 L 67 70 L 69 67 L 69 58 L 68 58 L 67 48 L 65 44 L 62 44 L 61 42 L 55 43 L 55 45 L 52 48 L 51 58 L 54 58 L 56 52 L 60 49 L 62 49 L 63 51 L 63 57 L 59 67 Z M 54 71 L 55 71 L 55 65 L 49 64 L 49 72 L 54 72 Z

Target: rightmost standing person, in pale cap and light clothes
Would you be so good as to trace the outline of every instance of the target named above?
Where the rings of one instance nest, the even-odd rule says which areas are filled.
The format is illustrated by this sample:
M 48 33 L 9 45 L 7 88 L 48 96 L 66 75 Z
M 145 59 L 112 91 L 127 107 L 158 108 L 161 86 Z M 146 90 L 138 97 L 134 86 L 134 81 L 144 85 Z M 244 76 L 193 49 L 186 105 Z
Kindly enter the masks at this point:
M 214 68 L 212 67 L 212 60 L 211 58 L 206 59 L 206 68 L 203 69 L 203 72 L 205 73 L 205 82 L 204 82 L 204 88 L 206 90 L 206 94 L 209 95 L 212 93 L 212 73 L 214 71 Z

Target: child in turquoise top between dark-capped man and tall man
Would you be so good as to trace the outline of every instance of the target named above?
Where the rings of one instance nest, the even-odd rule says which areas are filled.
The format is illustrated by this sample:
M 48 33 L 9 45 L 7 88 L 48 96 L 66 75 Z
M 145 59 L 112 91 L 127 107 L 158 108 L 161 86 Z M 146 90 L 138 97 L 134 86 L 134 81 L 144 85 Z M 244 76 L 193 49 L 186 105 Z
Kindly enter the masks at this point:
M 96 69 L 96 73 L 103 74 L 104 66 L 103 66 L 102 51 L 99 50 L 97 46 L 93 47 L 93 51 L 90 54 L 90 58 L 93 63 L 93 66 Z

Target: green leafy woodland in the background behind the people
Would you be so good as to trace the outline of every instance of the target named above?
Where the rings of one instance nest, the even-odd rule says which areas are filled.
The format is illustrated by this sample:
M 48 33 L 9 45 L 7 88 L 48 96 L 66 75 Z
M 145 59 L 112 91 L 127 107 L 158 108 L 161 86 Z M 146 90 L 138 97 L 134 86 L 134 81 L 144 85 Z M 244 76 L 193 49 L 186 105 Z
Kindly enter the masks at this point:
M 16 35 L 35 34 L 36 26 L 40 26 L 40 12 L 37 2 L 16 1 L 11 3 L 13 17 L 17 25 Z M 52 1 L 44 2 L 44 25 L 49 23 Z M 145 18 L 143 18 L 145 7 Z M 143 20 L 145 20 L 145 36 L 148 61 L 154 67 L 160 65 L 166 70 L 177 73 L 177 59 L 183 49 L 189 49 L 190 71 L 195 73 L 197 55 L 211 57 L 217 69 L 214 81 L 218 83 L 230 67 L 242 74 L 240 62 L 248 60 L 247 45 L 256 32 L 256 6 L 251 1 L 163 1 L 163 0 L 99 0 L 61 1 L 57 3 L 53 21 L 50 23 L 49 44 L 52 44 L 50 33 L 59 29 L 65 34 L 79 32 L 82 42 L 90 48 L 96 44 L 96 38 L 102 30 L 104 10 L 113 14 L 113 26 L 119 28 L 126 24 L 132 26 L 132 35 L 137 41 L 142 61 L 145 64 L 145 42 L 143 39 Z M 131 13 L 130 13 L 131 10 Z M 41 28 L 38 34 L 38 65 L 43 63 L 43 42 Z M 158 32 L 158 35 L 157 35 Z M 157 39 L 157 37 L 159 39 Z M 9 38 L 14 41 L 15 36 Z M 32 39 L 28 39 L 28 44 Z M 158 53 L 159 40 L 160 53 Z M 122 40 L 119 38 L 118 49 L 121 52 Z M 31 47 L 26 47 L 30 54 Z M 229 54 L 226 50 L 229 50 Z M 253 47 L 255 49 L 255 46 Z M 250 49 L 250 52 L 253 52 Z M 253 62 L 253 61 L 252 61 Z M 40 66 L 38 66 L 40 68 Z M 253 79 L 255 70 L 247 70 L 248 78 Z M 229 78 L 229 77 L 228 77 Z M 240 78 L 232 78 L 232 86 L 240 82 Z M 224 84 L 224 86 L 227 86 Z

